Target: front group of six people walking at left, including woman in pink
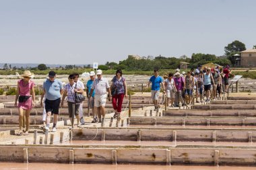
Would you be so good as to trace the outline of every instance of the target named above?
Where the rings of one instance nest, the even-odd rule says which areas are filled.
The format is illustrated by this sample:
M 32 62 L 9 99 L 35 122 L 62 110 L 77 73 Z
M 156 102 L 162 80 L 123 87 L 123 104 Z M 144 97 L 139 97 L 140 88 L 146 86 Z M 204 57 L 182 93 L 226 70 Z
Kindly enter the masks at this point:
M 63 83 L 56 79 L 55 71 L 50 71 L 49 77 L 42 85 L 42 95 L 40 98 L 40 105 L 44 108 L 42 115 L 43 128 L 49 130 L 51 116 L 53 115 L 52 131 L 56 132 L 59 107 L 63 108 L 65 100 L 67 101 L 69 118 L 71 120 L 73 120 L 73 117 L 77 119 L 77 127 L 84 124 L 83 101 L 77 102 L 75 95 L 77 93 L 84 95 L 85 91 L 88 97 L 88 108 L 92 109 L 92 123 L 104 122 L 104 107 L 107 97 L 109 101 L 112 101 L 113 109 L 115 110 L 114 118 L 120 120 L 123 98 L 127 97 L 127 84 L 125 77 L 122 75 L 121 69 L 117 70 L 116 75 L 111 80 L 112 84 L 109 85 L 107 79 L 102 77 L 101 70 L 97 70 L 96 75 L 94 71 L 91 71 L 90 80 L 87 82 L 86 87 L 84 87 L 84 83 L 79 81 L 79 74 L 73 73 L 68 77 L 69 83 L 63 86 Z M 30 111 L 32 107 L 34 107 L 35 101 L 35 84 L 34 81 L 31 80 L 32 73 L 30 73 L 30 71 L 24 71 L 22 77 L 23 79 L 18 81 L 18 92 L 15 97 L 14 105 L 18 107 L 20 113 L 20 131 L 17 134 L 28 135 Z M 24 120 L 24 116 L 26 116 L 26 120 Z M 24 121 L 26 121 L 25 132 L 23 130 Z

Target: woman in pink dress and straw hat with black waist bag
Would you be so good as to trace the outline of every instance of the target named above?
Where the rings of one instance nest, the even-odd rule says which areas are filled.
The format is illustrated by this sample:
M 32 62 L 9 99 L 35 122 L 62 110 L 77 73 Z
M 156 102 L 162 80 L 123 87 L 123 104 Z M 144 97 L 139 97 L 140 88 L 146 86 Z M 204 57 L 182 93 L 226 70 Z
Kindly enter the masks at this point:
M 30 79 L 32 78 L 32 74 L 30 71 L 24 71 L 22 75 L 23 79 L 18 81 L 17 93 L 15 97 L 14 106 L 19 108 L 19 125 L 20 131 L 17 135 L 22 135 L 22 127 L 23 127 L 23 116 L 26 115 L 26 130 L 25 135 L 28 135 L 28 130 L 30 126 L 30 112 L 32 107 L 34 107 L 35 94 L 34 94 L 34 82 Z

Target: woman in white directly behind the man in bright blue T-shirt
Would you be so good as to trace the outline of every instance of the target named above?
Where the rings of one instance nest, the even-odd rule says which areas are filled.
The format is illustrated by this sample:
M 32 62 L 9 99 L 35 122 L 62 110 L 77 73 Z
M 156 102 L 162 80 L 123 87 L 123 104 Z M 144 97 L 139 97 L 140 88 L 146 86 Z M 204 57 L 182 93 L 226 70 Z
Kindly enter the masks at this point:
M 166 88 L 167 105 L 168 107 L 170 106 L 171 108 L 174 108 L 174 95 L 177 89 L 174 85 L 173 74 L 170 73 L 168 75 L 168 79 L 166 79 L 164 82 L 165 82 L 164 87 Z M 170 101 L 170 105 L 169 105 L 169 101 Z

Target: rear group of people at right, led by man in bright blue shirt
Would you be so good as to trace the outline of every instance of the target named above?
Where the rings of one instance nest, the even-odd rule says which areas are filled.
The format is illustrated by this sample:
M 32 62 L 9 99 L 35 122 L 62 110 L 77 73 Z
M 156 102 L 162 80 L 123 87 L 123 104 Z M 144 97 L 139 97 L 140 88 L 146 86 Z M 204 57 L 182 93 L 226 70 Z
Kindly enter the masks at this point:
M 224 69 L 220 69 L 219 66 L 202 69 L 202 66 L 199 65 L 195 73 L 194 69 L 187 73 L 184 71 L 180 73 L 180 69 L 176 69 L 175 73 L 169 73 L 163 79 L 160 77 L 158 69 L 155 69 L 147 87 L 152 83 L 152 101 L 155 110 L 158 109 L 160 85 L 162 85 L 163 93 L 166 93 L 168 107 L 174 108 L 180 105 L 189 105 L 193 103 L 194 99 L 197 103 L 211 101 L 211 99 L 220 97 L 221 93 L 227 93 L 231 72 L 228 65 Z

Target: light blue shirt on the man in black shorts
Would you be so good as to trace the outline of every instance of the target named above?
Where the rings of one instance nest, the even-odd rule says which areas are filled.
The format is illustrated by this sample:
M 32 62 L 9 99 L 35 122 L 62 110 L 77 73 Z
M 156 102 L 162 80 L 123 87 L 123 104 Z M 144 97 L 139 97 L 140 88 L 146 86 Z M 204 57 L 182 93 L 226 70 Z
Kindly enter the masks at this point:
M 45 91 L 45 97 L 49 100 L 55 100 L 61 98 L 60 91 L 63 89 L 63 85 L 61 81 L 55 79 L 54 81 L 50 81 L 46 79 L 44 84 L 42 85 L 42 89 Z

